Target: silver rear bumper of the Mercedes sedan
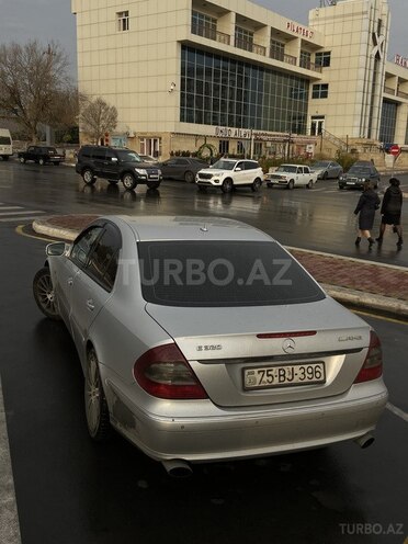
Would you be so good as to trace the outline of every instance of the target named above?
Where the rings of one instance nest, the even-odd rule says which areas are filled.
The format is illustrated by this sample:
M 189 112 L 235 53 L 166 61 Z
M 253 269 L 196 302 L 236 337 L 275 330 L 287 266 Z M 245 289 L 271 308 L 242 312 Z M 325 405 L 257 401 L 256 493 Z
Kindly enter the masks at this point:
M 373 382 L 365 385 L 353 386 L 331 401 L 263 409 L 223 409 L 209 400 L 186 400 L 182 401 L 185 416 L 175 415 L 178 409 L 173 417 L 172 401 L 167 403 L 163 416 L 140 409 L 116 387 L 106 396 L 113 426 L 148 456 L 194 463 L 267 456 L 362 437 L 375 429 L 387 401 L 382 379 L 374 388 Z M 124 412 L 126 419 L 121 420 Z

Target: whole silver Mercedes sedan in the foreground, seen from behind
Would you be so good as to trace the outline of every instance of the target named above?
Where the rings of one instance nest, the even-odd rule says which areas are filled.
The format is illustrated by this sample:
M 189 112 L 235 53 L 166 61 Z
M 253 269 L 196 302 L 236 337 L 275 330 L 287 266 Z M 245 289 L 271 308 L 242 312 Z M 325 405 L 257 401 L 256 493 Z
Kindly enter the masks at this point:
M 106 216 L 46 253 L 34 297 L 72 336 L 94 440 L 114 428 L 172 474 L 373 442 L 387 400 L 377 335 L 269 235 Z

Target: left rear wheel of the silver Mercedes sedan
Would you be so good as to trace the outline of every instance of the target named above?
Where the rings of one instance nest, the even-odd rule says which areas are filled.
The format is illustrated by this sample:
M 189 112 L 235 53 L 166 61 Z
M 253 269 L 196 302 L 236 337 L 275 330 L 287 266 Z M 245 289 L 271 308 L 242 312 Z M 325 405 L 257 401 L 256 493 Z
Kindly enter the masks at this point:
M 93 348 L 87 355 L 83 396 L 88 432 L 97 442 L 105 442 L 112 434 L 112 427 L 97 352 Z

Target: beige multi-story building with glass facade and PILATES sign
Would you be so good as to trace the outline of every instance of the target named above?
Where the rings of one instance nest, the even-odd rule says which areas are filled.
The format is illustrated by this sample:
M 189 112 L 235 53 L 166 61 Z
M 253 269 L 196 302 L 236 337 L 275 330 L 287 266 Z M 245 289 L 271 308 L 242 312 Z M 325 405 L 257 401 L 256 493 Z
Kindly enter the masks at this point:
M 248 0 L 71 0 L 71 11 L 79 90 L 117 107 L 112 143 L 161 158 L 408 143 L 387 0 L 339 0 L 308 26 Z

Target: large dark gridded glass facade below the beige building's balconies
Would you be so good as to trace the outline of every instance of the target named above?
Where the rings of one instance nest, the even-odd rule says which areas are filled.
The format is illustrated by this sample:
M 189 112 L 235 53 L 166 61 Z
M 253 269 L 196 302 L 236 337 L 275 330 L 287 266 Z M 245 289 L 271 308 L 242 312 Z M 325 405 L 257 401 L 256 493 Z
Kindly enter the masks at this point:
M 181 122 L 306 134 L 308 93 L 298 76 L 181 48 Z

